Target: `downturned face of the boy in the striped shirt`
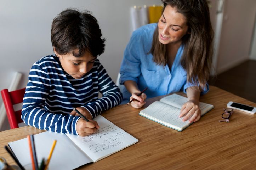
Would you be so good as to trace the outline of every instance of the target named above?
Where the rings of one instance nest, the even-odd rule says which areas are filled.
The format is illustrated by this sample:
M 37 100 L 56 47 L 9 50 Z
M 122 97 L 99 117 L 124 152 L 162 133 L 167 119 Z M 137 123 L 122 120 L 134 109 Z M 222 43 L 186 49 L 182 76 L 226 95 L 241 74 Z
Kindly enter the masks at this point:
M 93 57 L 89 52 L 86 52 L 81 57 L 75 57 L 72 53 L 67 53 L 64 55 L 55 54 L 59 57 L 61 66 L 65 72 L 71 75 L 74 79 L 82 78 L 87 72 L 89 72 L 94 64 L 97 57 Z M 78 52 L 78 50 L 74 50 Z

